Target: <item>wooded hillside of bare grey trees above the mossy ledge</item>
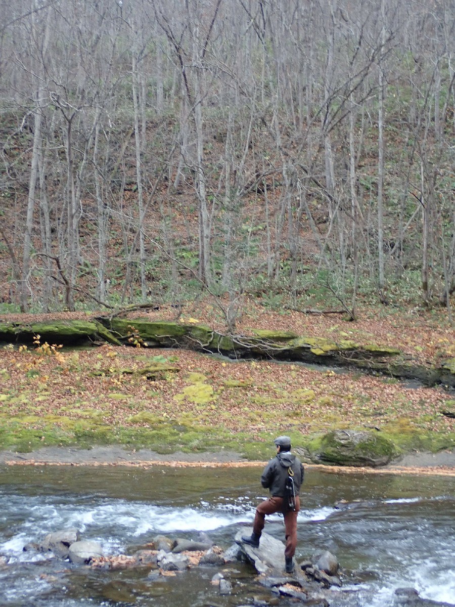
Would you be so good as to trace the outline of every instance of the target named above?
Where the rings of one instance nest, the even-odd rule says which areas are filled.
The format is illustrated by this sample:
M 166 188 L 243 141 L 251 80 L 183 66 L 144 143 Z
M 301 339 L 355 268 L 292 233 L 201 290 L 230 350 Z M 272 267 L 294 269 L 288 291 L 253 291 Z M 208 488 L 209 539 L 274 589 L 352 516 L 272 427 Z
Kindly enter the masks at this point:
M 445 307 L 450 0 L 0 0 L 2 313 Z

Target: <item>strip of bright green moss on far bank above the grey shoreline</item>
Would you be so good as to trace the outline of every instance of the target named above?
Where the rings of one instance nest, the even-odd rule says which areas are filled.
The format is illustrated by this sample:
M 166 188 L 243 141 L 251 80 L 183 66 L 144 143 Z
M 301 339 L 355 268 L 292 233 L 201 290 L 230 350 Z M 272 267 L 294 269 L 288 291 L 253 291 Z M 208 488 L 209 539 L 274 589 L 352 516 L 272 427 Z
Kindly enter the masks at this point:
M 67 413 L 70 415 L 72 410 Z M 265 460 L 273 455 L 272 431 L 251 436 L 248 430 L 232 433 L 220 426 L 197 425 L 193 418 L 189 421 L 185 416 L 164 421 L 150 412 L 136 413 L 127 418 L 127 423 L 141 424 L 142 427 L 126 427 L 104 423 L 104 412 L 100 410 L 85 410 L 81 413 L 83 417 L 78 419 L 56 415 L 8 417 L 1 413 L 0 449 L 30 452 L 45 446 L 77 446 L 87 449 L 97 445 L 121 445 L 127 449 L 150 449 L 161 454 L 177 451 L 218 452 L 225 449 L 251 460 Z M 270 423 L 272 424 L 272 419 Z M 334 421 L 328 426 L 335 428 L 340 427 L 340 424 Z M 310 435 L 292 429 L 286 432 L 291 436 L 295 447 L 311 447 L 311 450 L 317 447 L 323 436 L 322 432 Z M 403 419 L 387 424 L 378 436 L 391 441 L 397 454 L 436 453 L 455 448 L 455 433 L 441 435 L 430 430 L 423 431 L 412 427 Z

